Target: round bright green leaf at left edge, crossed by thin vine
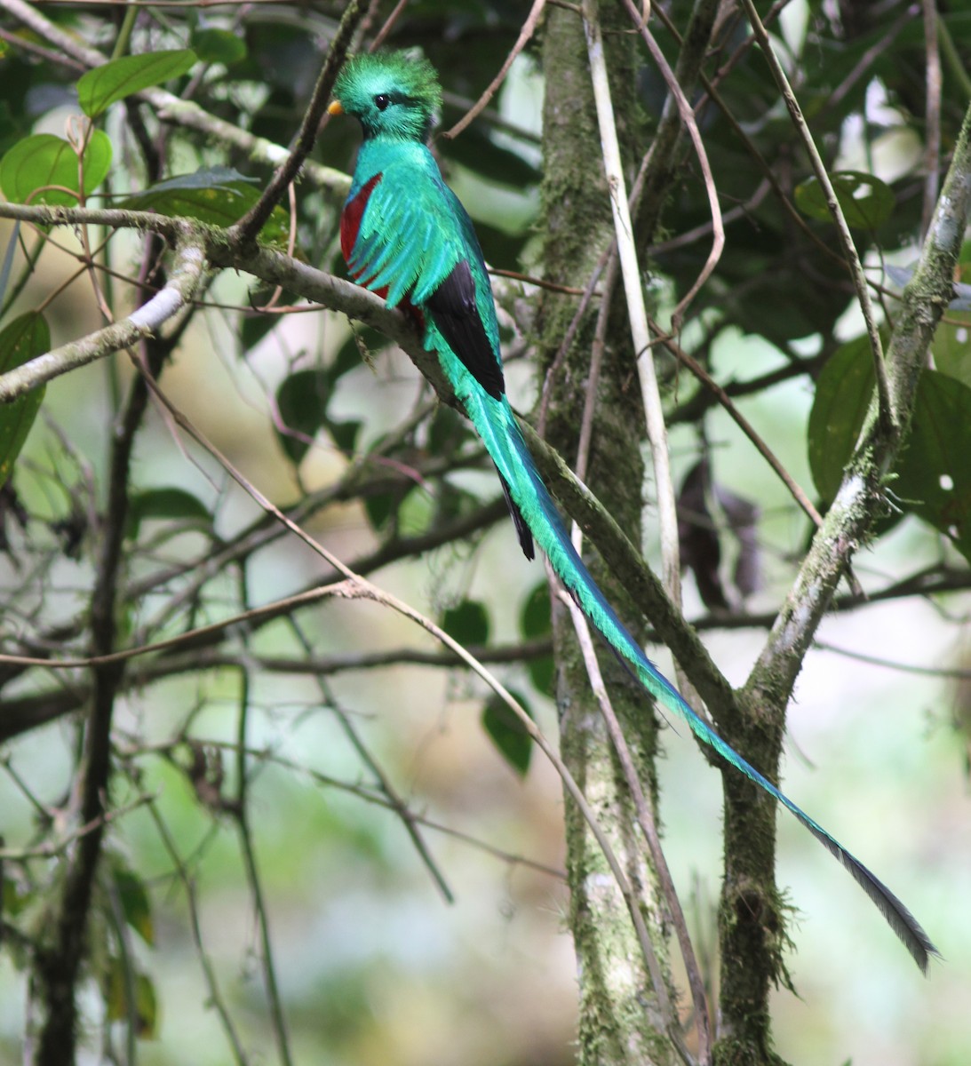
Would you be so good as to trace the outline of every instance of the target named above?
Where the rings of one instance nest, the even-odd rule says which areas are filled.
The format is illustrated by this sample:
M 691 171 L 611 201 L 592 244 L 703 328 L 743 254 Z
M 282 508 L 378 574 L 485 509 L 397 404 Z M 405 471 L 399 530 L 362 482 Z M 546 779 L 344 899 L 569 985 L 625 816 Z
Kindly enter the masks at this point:
M 102 130 L 91 131 L 80 167 L 77 152 L 63 138 L 34 133 L 18 141 L 3 157 L 0 188 L 14 204 L 76 207 L 81 188 L 79 169 L 84 173 L 84 195 L 90 196 L 111 169 L 111 141 Z

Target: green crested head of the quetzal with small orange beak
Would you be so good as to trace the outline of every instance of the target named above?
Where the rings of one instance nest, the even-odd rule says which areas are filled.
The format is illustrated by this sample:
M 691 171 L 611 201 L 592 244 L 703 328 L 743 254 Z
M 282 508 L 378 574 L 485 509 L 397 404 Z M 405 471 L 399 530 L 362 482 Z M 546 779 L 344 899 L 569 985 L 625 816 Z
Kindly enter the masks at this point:
M 408 52 L 374 52 L 349 60 L 334 85 L 331 114 L 345 112 L 365 136 L 421 141 L 441 107 L 435 67 Z

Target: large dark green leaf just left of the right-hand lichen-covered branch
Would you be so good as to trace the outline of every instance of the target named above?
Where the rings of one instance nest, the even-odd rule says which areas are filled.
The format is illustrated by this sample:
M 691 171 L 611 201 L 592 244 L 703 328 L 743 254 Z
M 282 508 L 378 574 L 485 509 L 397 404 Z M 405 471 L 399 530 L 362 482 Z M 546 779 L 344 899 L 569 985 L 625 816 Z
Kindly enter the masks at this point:
M 873 399 L 875 375 L 867 337 L 848 341 L 826 360 L 809 414 L 809 467 L 825 504 L 843 479 Z

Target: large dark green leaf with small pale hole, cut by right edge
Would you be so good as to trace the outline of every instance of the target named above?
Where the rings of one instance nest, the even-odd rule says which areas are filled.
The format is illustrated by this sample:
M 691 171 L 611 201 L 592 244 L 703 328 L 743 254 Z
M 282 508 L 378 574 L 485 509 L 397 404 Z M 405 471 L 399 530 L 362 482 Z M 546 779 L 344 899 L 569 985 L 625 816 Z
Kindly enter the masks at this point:
M 971 388 L 925 370 L 916 399 L 891 488 L 901 506 L 940 530 L 971 562 Z

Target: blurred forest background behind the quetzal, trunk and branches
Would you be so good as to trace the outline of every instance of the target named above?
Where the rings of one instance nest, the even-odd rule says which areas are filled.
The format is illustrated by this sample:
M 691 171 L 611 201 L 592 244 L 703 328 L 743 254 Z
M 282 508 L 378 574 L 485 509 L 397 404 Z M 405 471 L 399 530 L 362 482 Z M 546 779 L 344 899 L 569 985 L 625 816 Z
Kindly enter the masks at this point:
M 52 25 L 106 54 L 119 34 L 132 55 L 192 49 L 197 62 L 168 87 L 280 144 L 297 129 L 342 6 L 41 5 Z M 10 152 L 28 136 L 64 136 L 83 67 L 9 7 L 0 5 L 0 151 L 15 159 Z M 365 44 L 391 7 L 372 5 Z M 412 0 L 398 12 L 387 43 L 421 49 L 440 70 L 442 128 L 495 77 L 525 12 L 512 0 Z M 682 0 L 664 5 L 682 30 L 689 12 Z M 941 5 L 936 21 L 946 160 L 971 98 L 971 7 Z M 656 32 L 675 63 L 678 41 Z M 855 239 L 892 321 L 926 215 L 920 7 L 792 0 L 773 32 L 823 158 L 843 175 Z M 541 33 L 480 119 L 435 142 L 486 258 L 508 271 L 544 265 L 539 136 L 544 93 L 556 86 L 544 82 Z M 747 36 L 726 5 L 705 68 L 718 71 L 717 101 L 699 110 L 699 123 L 728 242 L 681 341 L 825 506 L 872 378 L 819 192 Z M 646 60 L 637 91 L 653 128 L 665 90 Z M 99 128 L 112 156 L 103 182 L 87 190 L 93 205 L 230 221 L 268 177 L 244 151 L 161 123 L 131 98 L 107 107 Z M 357 141 L 353 124 L 328 122 L 314 158 L 350 172 Z M 649 254 L 662 319 L 710 246 L 696 161 L 671 158 L 677 181 L 659 205 Z M 598 159 L 592 146 L 590 165 Z M 6 178 L 3 192 L 15 198 Z M 285 242 L 295 205 L 296 254 L 343 275 L 341 199 L 336 188 L 300 183 L 264 236 Z M 26 357 L 14 341 L 27 325 L 38 332 L 32 353 L 47 346 L 44 330 L 58 345 L 102 324 L 79 259 L 91 245 L 66 229 L 15 233 L 4 224 L 3 232 L 15 252 L 0 328 L 42 305 L 44 314 L 43 329 L 21 321 L 0 345 L 4 358 Z M 87 239 L 99 245 L 107 236 L 92 230 Z M 108 268 L 98 275 L 102 296 L 118 314 L 134 305 L 139 285 L 164 276 L 161 249 L 131 233 L 112 236 L 96 258 Z M 962 258 L 971 260 L 971 249 Z M 971 284 L 965 269 L 956 280 Z M 536 397 L 523 358 L 535 290 L 493 282 L 511 391 L 525 411 Z M 956 1066 L 971 1053 L 964 903 L 971 893 L 971 322 L 961 292 L 935 339 L 937 372 L 892 505 L 857 560 L 871 602 L 825 623 L 792 710 L 787 766 L 787 791 L 893 885 L 946 962 L 927 982 L 911 972 L 865 902 L 780 820 L 780 882 L 799 912 L 788 959 L 799 996 L 779 992 L 776 1037 L 794 1062 Z M 350 566 L 426 609 L 493 663 L 554 733 L 543 572 L 519 555 L 470 427 L 435 403 L 381 335 L 289 308 L 286 293 L 273 298 L 275 310 L 260 310 L 272 296 L 243 276 L 209 279 L 164 354 L 166 394 Z M 664 358 L 676 470 L 695 517 L 698 508 L 703 517 L 685 545 L 697 579 L 687 610 L 741 683 L 809 523 L 713 394 Z M 0 495 L 9 653 L 88 651 L 113 426 L 132 379 L 127 358 L 115 356 L 51 382 L 35 404 Z M 160 407 L 149 406 L 139 429 L 126 487 L 119 646 L 333 579 L 217 463 L 180 440 Z M 748 516 L 741 523 L 731 518 L 739 507 Z M 651 558 L 650 529 L 646 544 Z M 30 1028 L 31 946 L 50 920 L 62 857 L 77 845 L 78 712 L 91 678 L 84 669 L 0 669 L 0 1057 L 14 1062 Z M 573 1061 L 559 782 L 485 687 L 431 639 L 373 604 L 327 601 L 270 619 L 241 617 L 228 631 L 134 660 L 120 693 L 112 733 L 118 814 L 92 904 L 80 1062 L 126 1061 L 133 1050 L 146 1066 L 233 1056 L 403 1066 Z M 665 734 L 665 839 L 713 984 L 717 775 L 683 737 Z

